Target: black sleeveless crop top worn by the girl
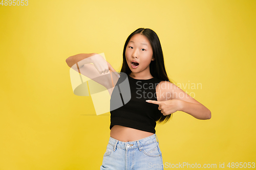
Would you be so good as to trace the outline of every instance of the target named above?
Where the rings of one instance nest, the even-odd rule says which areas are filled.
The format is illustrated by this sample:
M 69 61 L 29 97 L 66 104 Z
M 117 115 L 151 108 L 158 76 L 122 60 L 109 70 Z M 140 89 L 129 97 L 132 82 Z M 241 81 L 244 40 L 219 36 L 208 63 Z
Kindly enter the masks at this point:
M 110 100 L 110 129 L 120 125 L 156 133 L 156 121 L 163 114 L 159 105 L 146 100 L 157 101 L 156 86 L 160 82 L 157 78 L 138 80 L 120 72 Z

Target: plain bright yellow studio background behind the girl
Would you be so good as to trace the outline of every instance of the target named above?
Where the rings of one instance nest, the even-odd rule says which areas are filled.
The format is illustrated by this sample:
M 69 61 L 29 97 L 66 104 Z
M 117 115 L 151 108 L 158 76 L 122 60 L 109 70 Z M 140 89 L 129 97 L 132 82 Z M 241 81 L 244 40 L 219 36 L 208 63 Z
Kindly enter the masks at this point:
M 72 91 L 66 59 L 104 53 L 120 71 L 126 38 L 154 30 L 175 83 L 210 109 L 157 125 L 163 163 L 256 162 L 256 1 L 29 1 L 0 5 L 0 169 L 99 169 L 110 114 Z M 165 168 L 168 169 L 168 168 Z

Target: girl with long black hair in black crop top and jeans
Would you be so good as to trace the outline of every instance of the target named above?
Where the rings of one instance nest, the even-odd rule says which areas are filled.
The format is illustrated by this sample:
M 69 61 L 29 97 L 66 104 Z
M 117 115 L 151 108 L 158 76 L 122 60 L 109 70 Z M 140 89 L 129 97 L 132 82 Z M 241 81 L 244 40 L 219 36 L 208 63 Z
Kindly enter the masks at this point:
M 139 28 L 127 38 L 120 74 L 96 53 L 66 62 L 111 95 L 110 139 L 100 169 L 163 169 L 156 123 L 166 123 L 176 111 L 211 117 L 209 109 L 169 81 L 159 38 L 151 29 Z

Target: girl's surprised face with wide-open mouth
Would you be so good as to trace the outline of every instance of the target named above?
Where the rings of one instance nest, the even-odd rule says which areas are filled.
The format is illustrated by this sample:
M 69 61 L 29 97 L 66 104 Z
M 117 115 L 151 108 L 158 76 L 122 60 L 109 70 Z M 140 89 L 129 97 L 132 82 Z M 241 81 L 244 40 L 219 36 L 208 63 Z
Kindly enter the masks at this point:
M 126 46 L 125 58 L 132 72 L 146 75 L 150 72 L 151 61 L 155 60 L 150 41 L 144 35 L 133 35 Z

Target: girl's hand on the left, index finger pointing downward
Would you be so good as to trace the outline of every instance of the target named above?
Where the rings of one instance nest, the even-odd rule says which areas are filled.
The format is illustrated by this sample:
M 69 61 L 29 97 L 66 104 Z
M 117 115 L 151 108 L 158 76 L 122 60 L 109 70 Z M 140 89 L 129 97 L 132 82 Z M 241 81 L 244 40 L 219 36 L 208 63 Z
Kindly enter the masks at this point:
M 94 64 L 94 67 L 99 71 L 99 74 L 107 73 L 109 70 L 114 72 L 114 74 L 120 78 L 119 74 L 112 67 L 112 65 L 106 61 L 101 55 L 95 53 L 95 55 L 91 56 L 91 62 Z

